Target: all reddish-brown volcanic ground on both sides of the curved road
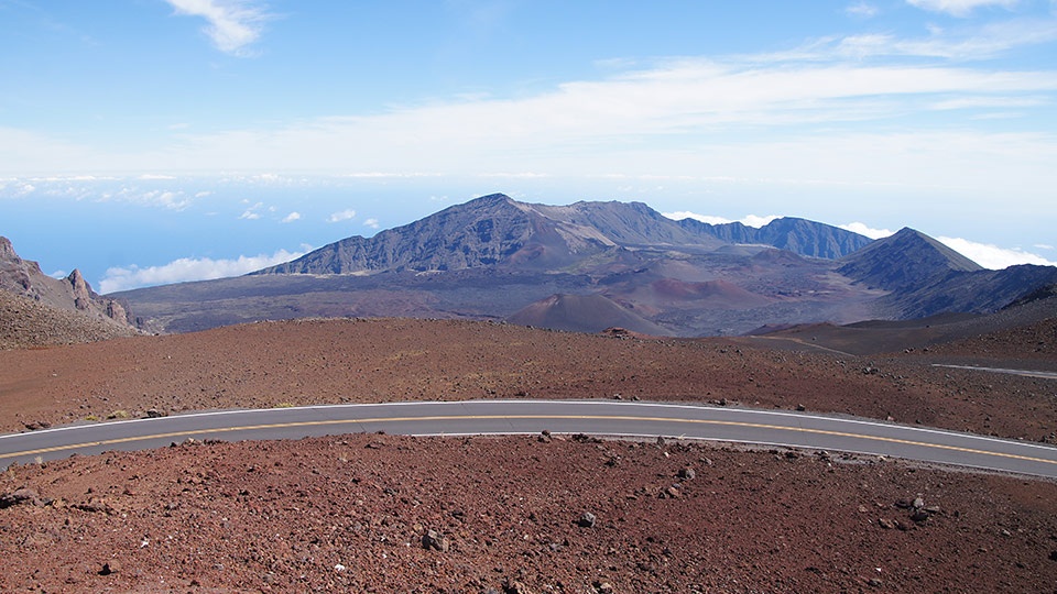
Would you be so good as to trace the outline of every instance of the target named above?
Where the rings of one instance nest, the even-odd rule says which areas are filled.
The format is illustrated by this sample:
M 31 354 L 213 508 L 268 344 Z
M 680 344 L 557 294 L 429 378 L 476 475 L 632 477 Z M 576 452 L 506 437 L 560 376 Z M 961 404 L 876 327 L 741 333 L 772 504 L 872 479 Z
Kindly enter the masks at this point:
M 1053 364 L 1038 340 L 1022 344 L 1047 328 L 979 340 L 1003 366 Z M 619 395 L 1032 440 L 1057 428 L 1055 381 L 930 366 L 979 344 L 876 358 L 751 344 L 457 321 L 255 323 L 0 351 L 0 424 Z M 593 526 L 578 524 L 585 513 Z M 0 473 L 0 554 L 3 592 L 1040 592 L 1057 590 L 1057 484 L 673 441 L 185 443 Z

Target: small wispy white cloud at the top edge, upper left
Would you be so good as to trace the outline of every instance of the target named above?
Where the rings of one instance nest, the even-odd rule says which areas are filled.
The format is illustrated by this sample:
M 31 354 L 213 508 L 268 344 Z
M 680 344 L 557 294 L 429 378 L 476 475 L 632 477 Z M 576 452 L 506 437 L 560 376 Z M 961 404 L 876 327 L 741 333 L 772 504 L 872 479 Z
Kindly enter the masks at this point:
M 247 46 L 255 42 L 271 15 L 263 6 L 247 0 L 165 0 L 176 14 L 201 16 L 205 32 L 213 44 L 227 54 L 248 55 Z

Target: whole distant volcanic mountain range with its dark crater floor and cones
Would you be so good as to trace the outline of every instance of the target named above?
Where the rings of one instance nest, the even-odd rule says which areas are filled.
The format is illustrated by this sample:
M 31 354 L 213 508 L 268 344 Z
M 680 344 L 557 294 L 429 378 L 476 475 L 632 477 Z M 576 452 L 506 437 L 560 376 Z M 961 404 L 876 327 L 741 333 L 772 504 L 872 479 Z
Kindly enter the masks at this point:
M 593 330 L 701 337 L 985 314 L 1055 283 L 1057 267 L 985 271 L 913 229 L 871 241 L 786 218 L 750 232 L 675 221 L 643 202 L 548 206 L 492 194 L 246 276 L 118 295 L 162 331 L 406 316 L 581 330 L 590 318 Z

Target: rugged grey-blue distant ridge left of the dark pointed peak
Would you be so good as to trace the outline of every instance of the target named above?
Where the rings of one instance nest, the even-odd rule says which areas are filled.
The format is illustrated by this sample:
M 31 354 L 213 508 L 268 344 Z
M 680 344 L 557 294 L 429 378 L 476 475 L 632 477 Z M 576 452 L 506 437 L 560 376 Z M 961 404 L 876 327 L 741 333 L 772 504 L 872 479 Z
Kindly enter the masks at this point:
M 716 251 L 730 243 L 717 235 L 716 229 L 698 221 L 668 219 L 643 202 L 549 206 L 490 194 L 373 238 L 346 238 L 250 274 L 372 274 L 478 266 L 555 271 L 619 250 Z M 740 231 L 738 237 L 751 237 L 748 243 L 762 242 L 810 257 L 843 254 L 870 242 L 850 231 L 804 219 L 781 219 L 758 231 L 751 235 Z M 813 234 L 814 240 L 809 239 Z

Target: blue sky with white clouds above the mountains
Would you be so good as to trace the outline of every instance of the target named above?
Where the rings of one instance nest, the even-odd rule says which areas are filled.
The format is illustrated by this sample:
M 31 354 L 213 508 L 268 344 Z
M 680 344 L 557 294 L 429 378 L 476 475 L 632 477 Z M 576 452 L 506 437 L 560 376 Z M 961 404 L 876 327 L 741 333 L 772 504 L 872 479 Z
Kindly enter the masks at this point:
M 110 293 L 501 191 L 1057 264 L 1057 0 L 0 0 L 0 235 Z

